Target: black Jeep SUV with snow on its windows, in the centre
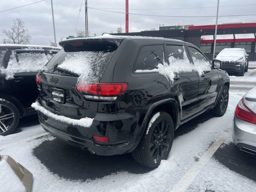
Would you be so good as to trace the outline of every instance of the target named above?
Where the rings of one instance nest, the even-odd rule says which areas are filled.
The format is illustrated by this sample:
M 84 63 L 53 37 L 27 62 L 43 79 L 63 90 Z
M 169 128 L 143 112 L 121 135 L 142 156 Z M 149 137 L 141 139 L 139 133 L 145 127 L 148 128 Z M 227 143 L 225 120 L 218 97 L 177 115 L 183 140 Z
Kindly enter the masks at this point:
M 181 124 L 226 112 L 229 76 L 193 44 L 104 35 L 60 46 L 37 75 L 32 107 L 47 132 L 93 154 L 132 152 L 155 168 Z

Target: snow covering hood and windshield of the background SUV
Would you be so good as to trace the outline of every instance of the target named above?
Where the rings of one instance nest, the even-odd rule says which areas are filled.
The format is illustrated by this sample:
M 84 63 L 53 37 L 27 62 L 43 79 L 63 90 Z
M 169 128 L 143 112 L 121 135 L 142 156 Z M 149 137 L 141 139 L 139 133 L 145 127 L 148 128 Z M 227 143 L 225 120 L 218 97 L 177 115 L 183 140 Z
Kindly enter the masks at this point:
M 221 61 L 237 61 L 244 58 L 244 51 L 236 48 L 225 48 L 217 56 L 216 59 Z

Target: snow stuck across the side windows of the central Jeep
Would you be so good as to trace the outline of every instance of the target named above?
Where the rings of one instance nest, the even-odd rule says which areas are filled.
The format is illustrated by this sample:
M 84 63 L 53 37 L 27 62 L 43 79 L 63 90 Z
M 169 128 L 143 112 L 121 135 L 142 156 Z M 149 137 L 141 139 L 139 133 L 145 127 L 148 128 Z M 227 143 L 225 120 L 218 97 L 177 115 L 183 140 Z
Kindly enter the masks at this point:
M 174 82 L 174 78 L 176 74 L 180 72 L 192 72 L 196 71 L 200 76 L 204 74 L 204 71 L 211 70 L 210 62 L 206 62 L 205 60 L 199 60 L 193 57 L 194 65 L 188 60 L 188 56 L 186 54 L 185 48 L 183 46 L 183 50 L 179 49 L 179 52 L 183 52 L 183 58 L 175 58 L 173 53 L 169 54 L 169 63 L 163 61 L 159 63 L 156 68 L 152 70 L 136 70 L 135 72 L 158 72 L 164 75 L 170 82 Z

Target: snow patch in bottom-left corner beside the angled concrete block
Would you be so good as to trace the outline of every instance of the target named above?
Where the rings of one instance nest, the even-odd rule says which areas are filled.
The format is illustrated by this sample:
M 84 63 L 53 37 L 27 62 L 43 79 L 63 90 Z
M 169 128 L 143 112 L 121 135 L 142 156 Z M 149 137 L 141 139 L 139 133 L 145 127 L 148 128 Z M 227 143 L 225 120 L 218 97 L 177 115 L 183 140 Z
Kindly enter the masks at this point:
M 24 185 L 5 160 L 5 157 L 0 160 L 0 190 L 6 192 L 26 192 Z

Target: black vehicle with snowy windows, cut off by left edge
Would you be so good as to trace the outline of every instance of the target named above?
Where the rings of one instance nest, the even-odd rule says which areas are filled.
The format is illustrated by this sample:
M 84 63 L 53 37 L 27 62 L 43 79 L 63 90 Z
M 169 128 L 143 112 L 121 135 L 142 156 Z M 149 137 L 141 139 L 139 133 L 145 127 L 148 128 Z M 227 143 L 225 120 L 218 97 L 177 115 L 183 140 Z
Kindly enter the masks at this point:
M 36 74 L 60 48 L 0 44 L 0 135 L 10 134 L 20 117 L 35 114 Z

